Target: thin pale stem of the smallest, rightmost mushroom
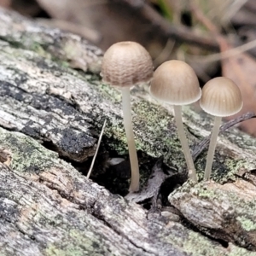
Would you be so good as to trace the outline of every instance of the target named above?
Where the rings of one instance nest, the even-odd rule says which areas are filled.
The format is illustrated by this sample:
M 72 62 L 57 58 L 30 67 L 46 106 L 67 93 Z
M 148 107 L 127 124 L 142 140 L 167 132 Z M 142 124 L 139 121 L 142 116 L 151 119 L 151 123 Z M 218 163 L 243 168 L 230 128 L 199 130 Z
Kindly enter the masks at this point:
M 211 136 L 211 141 L 210 141 L 208 154 L 207 154 L 207 166 L 206 166 L 205 176 L 204 176 L 206 180 L 210 179 L 211 172 L 212 172 L 212 161 L 213 161 L 214 151 L 216 148 L 219 126 L 221 125 L 221 119 L 222 117 L 220 116 L 215 116 L 215 119 L 214 119 L 212 136 Z

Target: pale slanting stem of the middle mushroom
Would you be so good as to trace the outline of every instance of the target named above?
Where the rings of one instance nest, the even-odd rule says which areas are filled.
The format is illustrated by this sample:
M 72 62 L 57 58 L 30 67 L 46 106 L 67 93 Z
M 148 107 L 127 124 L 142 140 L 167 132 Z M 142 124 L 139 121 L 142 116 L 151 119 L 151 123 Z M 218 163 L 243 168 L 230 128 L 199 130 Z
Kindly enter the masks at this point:
M 181 112 L 182 107 L 174 105 L 173 108 L 175 113 L 175 121 L 177 125 L 177 134 L 178 134 L 180 143 L 182 145 L 183 154 L 185 156 L 185 160 L 188 166 L 189 178 L 191 178 L 193 181 L 195 181 L 195 183 L 197 183 L 194 161 L 189 151 L 189 144 L 188 144 L 188 140 L 185 135 L 184 126 L 183 126 L 183 118 L 182 118 L 182 112 Z

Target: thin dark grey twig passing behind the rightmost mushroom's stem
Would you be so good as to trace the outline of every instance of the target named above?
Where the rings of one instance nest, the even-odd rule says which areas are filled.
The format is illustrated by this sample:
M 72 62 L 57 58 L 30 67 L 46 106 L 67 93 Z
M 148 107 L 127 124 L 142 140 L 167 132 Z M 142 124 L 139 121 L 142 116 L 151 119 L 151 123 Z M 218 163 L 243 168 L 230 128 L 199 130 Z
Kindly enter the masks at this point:
M 253 119 L 256 118 L 256 114 L 253 112 L 248 112 L 248 113 L 244 113 L 242 114 L 240 117 L 236 118 L 236 119 L 232 119 L 229 122 L 225 123 L 224 125 L 220 126 L 219 132 L 223 132 L 226 131 L 227 129 L 229 129 L 230 127 L 241 123 L 242 121 L 245 121 L 247 119 Z M 201 154 L 201 152 L 204 150 L 204 148 L 206 148 L 208 146 L 208 144 L 210 143 L 210 138 L 211 138 L 211 134 L 204 138 L 201 143 L 199 143 L 195 149 L 192 152 L 192 158 L 195 161 L 195 159 L 198 157 L 199 154 Z

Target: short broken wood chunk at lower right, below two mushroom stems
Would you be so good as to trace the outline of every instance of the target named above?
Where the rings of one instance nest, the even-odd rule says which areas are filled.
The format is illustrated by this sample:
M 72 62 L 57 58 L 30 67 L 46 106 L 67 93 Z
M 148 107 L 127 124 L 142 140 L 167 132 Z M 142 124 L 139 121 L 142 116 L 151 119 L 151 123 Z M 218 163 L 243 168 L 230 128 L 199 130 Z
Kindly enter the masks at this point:
M 207 235 L 256 250 L 256 187 L 243 180 L 224 185 L 186 183 L 169 199 Z M 196 215 L 195 215 L 196 212 Z

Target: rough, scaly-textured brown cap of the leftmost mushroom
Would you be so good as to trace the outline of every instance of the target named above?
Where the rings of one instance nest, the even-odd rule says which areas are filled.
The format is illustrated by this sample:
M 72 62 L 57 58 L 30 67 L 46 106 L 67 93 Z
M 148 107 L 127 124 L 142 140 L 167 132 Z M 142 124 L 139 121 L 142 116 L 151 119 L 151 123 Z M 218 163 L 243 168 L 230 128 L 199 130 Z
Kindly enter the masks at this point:
M 102 60 L 102 80 L 125 87 L 148 82 L 153 62 L 148 51 L 136 42 L 119 42 L 108 48 Z

